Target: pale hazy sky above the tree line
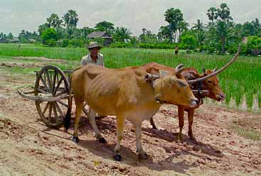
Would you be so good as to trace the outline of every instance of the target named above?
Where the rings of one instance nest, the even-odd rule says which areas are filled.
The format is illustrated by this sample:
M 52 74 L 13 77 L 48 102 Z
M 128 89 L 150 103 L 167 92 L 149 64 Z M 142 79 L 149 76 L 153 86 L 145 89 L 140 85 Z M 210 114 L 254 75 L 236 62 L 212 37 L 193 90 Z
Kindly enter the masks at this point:
M 196 19 L 208 23 L 206 11 L 223 2 L 231 9 L 235 23 L 261 19 L 261 0 L 0 0 L 0 32 L 17 36 L 22 29 L 37 31 L 51 13 L 62 17 L 73 9 L 79 15 L 78 28 L 109 21 L 129 28 L 133 35 L 140 35 L 142 28 L 157 33 L 167 24 L 167 9 L 181 9 L 184 20 L 192 25 Z

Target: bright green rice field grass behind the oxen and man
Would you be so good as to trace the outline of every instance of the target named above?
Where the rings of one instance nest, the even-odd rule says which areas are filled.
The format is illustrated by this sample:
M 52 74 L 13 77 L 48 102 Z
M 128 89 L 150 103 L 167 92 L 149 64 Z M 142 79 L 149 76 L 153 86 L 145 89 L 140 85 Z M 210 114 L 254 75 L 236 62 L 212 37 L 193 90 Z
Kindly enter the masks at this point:
M 183 63 L 186 67 L 195 67 L 197 70 L 222 67 L 233 55 L 206 55 L 201 53 L 179 53 L 174 56 L 173 50 L 136 49 L 136 48 L 103 48 L 101 53 L 105 56 L 105 65 L 110 68 L 144 65 L 148 62 L 158 62 L 163 65 L 175 67 Z M 74 60 L 74 64 L 55 63 L 62 70 L 73 69 L 81 57 L 87 54 L 85 48 L 48 48 L 38 45 L 1 44 L 0 58 L 10 59 L 14 56 L 48 57 L 53 59 Z M 71 62 L 70 62 L 71 63 Z M 261 106 L 261 58 L 243 57 L 222 72 L 220 78 L 221 88 L 226 94 L 226 102 L 233 97 L 237 104 L 245 94 L 247 104 L 252 106 L 252 97 L 257 94 Z M 16 71 L 16 70 L 14 70 Z M 20 72 L 21 70 L 17 70 Z M 21 71 L 22 72 L 22 71 Z

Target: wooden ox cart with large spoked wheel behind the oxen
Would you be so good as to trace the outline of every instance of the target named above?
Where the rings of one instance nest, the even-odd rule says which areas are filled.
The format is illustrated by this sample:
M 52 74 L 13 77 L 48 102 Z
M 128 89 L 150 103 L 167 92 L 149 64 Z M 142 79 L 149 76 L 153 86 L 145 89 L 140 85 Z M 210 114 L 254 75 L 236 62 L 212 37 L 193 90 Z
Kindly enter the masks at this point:
M 70 77 L 73 70 L 60 70 L 59 67 L 47 65 L 35 71 L 36 80 L 33 91 L 22 92 L 21 97 L 35 101 L 40 119 L 51 128 L 60 128 L 68 107 Z M 73 95 L 72 95 L 73 96 Z M 84 114 L 87 109 L 84 108 Z

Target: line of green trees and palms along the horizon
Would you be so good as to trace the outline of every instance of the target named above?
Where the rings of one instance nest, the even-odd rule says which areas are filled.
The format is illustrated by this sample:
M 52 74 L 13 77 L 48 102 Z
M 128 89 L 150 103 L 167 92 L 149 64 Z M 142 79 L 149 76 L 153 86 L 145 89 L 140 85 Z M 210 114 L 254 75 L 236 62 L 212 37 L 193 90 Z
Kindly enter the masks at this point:
M 167 26 L 161 26 L 158 33 L 152 33 L 143 28 L 138 37 L 131 36 L 128 28 L 116 27 L 108 21 L 96 23 L 94 28 L 77 28 L 79 21 L 77 11 L 70 10 L 62 18 L 52 13 L 47 21 L 38 26 L 38 33 L 30 33 L 22 30 L 19 39 L 22 43 L 34 39 L 38 43 L 50 46 L 83 47 L 89 43 L 87 36 L 93 31 L 106 31 L 113 37 L 111 47 L 139 47 L 139 48 L 179 48 L 209 53 L 235 53 L 238 43 L 243 37 L 249 37 L 250 44 L 245 46 L 243 52 L 256 55 L 261 51 L 261 23 L 258 18 L 245 23 L 233 22 L 231 10 L 227 4 L 221 4 L 218 8 L 211 7 L 206 11 L 208 23 L 196 20 L 189 26 L 184 20 L 180 9 L 170 8 L 164 14 Z M 4 35 L 0 38 L 13 35 Z M 102 43 L 102 40 L 98 39 Z

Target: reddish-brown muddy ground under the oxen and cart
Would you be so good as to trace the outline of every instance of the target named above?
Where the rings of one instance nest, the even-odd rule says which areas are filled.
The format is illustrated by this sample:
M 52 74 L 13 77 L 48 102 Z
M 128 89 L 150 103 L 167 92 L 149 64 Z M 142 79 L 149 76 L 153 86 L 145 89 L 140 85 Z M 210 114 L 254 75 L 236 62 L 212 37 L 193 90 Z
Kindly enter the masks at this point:
M 96 141 L 85 116 L 80 121 L 81 141 L 73 143 L 72 126 L 68 133 L 48 128 L 34 102 L 17 94 L 18 87 L 33 85 L 35 77 L 14 76 L 9 69 L 6 62 L 0 64 L 0 175 L 261 175 L 260 141 L 235 130 L 247 126 L 260 133 L 260 114 L 204 104 L 194 116 L 196 141 L 189 140 L 185 121 L 184 140 L 177 143 L 177 108 L 164 105 L 154 118 L 159 130 L 153 130 L 148 121 L 143 123 L 148 160 L 138 159 L 135 133 L 126 121 L 123 160 L 116 162 L 113 116 L 97 119 L 106 144 Z

